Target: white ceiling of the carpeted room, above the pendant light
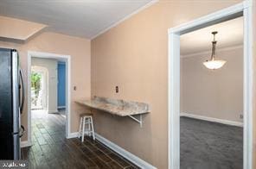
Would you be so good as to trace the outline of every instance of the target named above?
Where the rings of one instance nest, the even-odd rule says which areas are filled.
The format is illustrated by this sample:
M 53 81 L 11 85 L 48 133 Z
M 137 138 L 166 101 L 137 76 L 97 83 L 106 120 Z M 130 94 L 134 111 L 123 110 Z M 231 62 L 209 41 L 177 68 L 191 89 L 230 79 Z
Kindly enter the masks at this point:
M 218 48 L 234 47 L 243 44 L 243 17 L 235 18 L 227 22 L 221 22 L 207 28 L 181 36 L 181 55 L 210 51 L 213 41 L 213 31 L 216 34 Z

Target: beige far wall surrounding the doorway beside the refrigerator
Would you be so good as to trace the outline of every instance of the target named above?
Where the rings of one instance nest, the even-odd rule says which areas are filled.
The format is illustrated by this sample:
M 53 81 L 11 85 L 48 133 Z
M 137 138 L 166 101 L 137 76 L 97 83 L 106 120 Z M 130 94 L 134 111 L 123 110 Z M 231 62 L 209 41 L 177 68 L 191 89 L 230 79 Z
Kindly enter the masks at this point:
M 91 53 L 90 41 L 82 38 L 68 36 L 64 34 L 42 33 L 25 44 L 15 44 L 0 41 L 0 47 L 16 48 L 21 59 L 22 70 L 25 74 L 25 82 L 28 71 L 28 51 L 57 53 L 71 55 L 71 132 L 77 131 L 79 125 L 79 107 L 75 100 L 91 97 Z M 77 91 L 73 90 L 73 86 L 77 86 Z M 26 84 L 27 86 L 27 84 Z M 27 130 L 27 100 L 25 109 L 22 114 L 22 125 Z M 27 133 L 22 140 L 27 140 Z

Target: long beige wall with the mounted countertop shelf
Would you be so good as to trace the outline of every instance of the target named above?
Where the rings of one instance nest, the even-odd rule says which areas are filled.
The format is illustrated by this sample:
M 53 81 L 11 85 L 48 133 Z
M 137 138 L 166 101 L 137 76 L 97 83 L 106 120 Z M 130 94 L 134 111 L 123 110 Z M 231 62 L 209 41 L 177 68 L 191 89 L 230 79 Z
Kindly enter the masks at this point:
M 167 29 L 238 2 L 159 1 L 94 39 L 92 96 L 150 103 L 151 109 L 143 128 L 130 118 L 95 113 L 97 133 L 153 166 L 167 168 Z

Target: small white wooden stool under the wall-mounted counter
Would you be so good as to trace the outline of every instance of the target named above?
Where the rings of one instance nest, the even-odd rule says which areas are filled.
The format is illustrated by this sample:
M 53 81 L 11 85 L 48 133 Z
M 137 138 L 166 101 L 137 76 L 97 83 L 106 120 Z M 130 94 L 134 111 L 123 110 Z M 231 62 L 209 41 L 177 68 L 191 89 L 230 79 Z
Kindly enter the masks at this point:
M 93 135 L 93 140 L 95 140 L 94 128 L 93 128 L 93 114 L 83 113 L 80 114 L 80 128 L 78 138 L 82 136 L 82 142 L 84 141 L 84 135 Z

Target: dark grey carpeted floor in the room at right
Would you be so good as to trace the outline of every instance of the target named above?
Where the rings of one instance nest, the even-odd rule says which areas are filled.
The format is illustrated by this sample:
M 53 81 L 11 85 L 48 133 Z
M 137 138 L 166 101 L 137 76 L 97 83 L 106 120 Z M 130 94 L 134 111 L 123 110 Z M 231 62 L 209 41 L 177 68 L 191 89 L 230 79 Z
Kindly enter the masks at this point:
M 242 169 L 243 128 L 181 117 L 181 169 Z

